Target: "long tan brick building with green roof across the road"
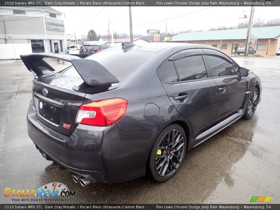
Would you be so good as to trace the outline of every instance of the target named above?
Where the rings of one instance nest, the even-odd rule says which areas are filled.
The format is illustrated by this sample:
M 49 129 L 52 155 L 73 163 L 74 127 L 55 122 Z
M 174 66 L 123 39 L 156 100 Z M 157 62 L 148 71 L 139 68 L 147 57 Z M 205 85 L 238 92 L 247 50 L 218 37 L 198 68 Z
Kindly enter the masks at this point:
M 252 46 L 257 54 L 275 55 L 280 48 L 280 26 L 252 28 L 251 35 L 258 37 Z M 172 36 L 170 42 L 196 43 L 214 46 L 227 54 L 235 54 L 246 43 L 247 28 L 217 31 L 197 31 Z

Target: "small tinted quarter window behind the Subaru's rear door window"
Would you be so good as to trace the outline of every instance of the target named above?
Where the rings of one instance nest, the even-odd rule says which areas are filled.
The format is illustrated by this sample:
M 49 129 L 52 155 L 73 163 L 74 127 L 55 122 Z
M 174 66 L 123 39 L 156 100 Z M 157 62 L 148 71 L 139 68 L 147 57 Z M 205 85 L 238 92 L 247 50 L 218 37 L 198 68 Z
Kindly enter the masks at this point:
M 173 61 L 167 61 L 163 64 L 163 66 L 157 71 L 157 76 L 161 82 L 178 82 L 178 76 Z

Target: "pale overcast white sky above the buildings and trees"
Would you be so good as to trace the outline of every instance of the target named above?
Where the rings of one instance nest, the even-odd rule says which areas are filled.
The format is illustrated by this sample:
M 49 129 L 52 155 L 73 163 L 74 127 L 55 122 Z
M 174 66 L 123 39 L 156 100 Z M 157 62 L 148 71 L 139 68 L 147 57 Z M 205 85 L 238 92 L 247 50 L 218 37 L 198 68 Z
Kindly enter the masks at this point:
M 110 31 L 129 34 L 128 7 L 53 7 L 65 14 L 64 24 L 66 34 L 88 34 L 94 29 L 97 34 L 108 34 L 108 18 Z M 167 31 L 208 30 L 210 27 L 234 26 L 240 21 L 239 17 L 250 15 L 251 7 L 132 7 L 133 34 L 146 34 L 147 29 Z M 102 10 L 102 11 L 101 11 Z M 201 11 L 199 11 L 201 10 Z M 261 17 L 265 20 L 279 18 L 280 7 L 255 7 L 254 19 Z M 101 12 L 100 12 L 101 11 Z M 98 14 L 97 14 L 98 13 Z M 191 14 L 188 14 L 191 13 Z M 188 15 L 185 15 L 188 14 Z M 176 17 L 180 16 L 181 17 Z M 169 19 L 176 17 L 173 19 Z M 169 19 L 169 20 L 165 20 Z M 163 20 L 163 21 L 160 21 Z M 248 20 L 248 19 L 246 19 Z M 160 22 L 157 22 L 160 21 Z M 156 23 L 152 23 L 156 22 Z M 143 25 L 143 26 L 140 26 Z

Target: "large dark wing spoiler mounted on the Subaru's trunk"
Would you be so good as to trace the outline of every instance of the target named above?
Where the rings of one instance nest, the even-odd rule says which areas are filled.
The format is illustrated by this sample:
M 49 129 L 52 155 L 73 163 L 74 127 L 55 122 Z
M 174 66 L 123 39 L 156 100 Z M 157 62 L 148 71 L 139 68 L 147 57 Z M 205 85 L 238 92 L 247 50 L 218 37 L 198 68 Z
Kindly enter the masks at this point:
M 33 73 L 35 79 L 54 75 L 55 69 L 43 60 L 43 58 L 54 58 L 71 62 L 88 86 L 110 86 L 119 82 L 110 71 L 97 61 L 81 59 L 75 55 L 40 53 L 21 55 L 20 57 L 27 69 Z

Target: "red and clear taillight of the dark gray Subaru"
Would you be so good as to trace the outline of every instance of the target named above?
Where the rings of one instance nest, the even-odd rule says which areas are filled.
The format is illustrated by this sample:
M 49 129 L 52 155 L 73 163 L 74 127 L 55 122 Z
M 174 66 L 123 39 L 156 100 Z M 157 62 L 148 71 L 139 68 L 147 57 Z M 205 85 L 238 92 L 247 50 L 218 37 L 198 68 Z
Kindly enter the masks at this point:
M 127 100 L 105 99 L 83 104 L 79 107 L 76 123 L 93 126 L 108 126 L 117 122 L 127 109 Z

